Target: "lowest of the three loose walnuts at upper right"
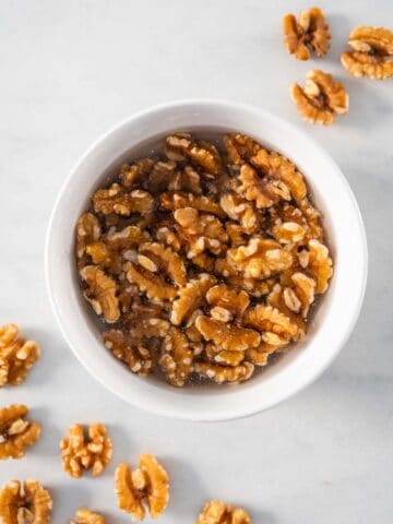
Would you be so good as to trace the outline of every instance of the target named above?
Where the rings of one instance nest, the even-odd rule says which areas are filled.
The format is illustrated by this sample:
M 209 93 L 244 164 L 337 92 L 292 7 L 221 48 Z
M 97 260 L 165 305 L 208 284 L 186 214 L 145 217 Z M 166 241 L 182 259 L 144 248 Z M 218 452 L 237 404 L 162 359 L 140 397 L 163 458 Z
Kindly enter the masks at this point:
M 333 76 L 323 71 L 310 71 L 306 87 L 293 84 L 290 94 L 301 117 L 311 123 L 330 126 L 336 115 L 345 115 L 349 108 L 344 85 L 334 82 Z

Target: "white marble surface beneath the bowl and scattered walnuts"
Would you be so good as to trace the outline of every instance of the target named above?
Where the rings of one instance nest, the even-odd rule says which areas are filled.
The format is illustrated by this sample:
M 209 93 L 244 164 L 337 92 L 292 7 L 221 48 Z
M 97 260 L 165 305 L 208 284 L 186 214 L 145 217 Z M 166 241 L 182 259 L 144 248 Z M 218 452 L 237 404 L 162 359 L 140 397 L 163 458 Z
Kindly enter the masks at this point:
M 332 50 L 302 63 L 281 44 L 281 16 L 300 1 L 0 2 L 0 320 L 16 321 L 43 347 L 29 380 L 0 400 L 28 403 L 44 426 L 26 458 L 0 464 L 0 480 L 38 476 L 53 493 L 52 522 L 81 505 L 129 522 L 116 510 L 112 474 L 143 450 L 171 475 L 163 524 L 192 523 L 210 498 L 243 504 L 261 524 L 392 522 L 393 81 L 349 78 L 338 56 L 353 26 L 392 22 L 393 5 L 321 4 Z M 348 116 L 330 129 L 302 123 L 288 97 L 311 68 L 337 74 L 349 91 Z M 333 366 L 275 409 L 224 424 L 159 418 L 108 393 L 68 349 L 44 282 L 49 213 L 78 157 L 133 111 L 192 96 L 252 103 L 312 133 L 355 191 L 370 250 L 365 306 Z M 73 480 L 59 440 L 69 424 L 94 419 L 114 437 L 112 465 L 98 479 Z

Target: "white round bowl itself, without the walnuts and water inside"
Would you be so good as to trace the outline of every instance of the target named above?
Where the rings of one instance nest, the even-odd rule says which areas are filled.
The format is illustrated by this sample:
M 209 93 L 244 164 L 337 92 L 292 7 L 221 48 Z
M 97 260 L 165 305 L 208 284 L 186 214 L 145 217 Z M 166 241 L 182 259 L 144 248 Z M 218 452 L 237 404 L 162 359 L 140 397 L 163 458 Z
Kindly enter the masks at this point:
M 294 160 L 324 214 L 334 276 L 302 344 L 241 385 L 175 389 L 131 373 L 105 349 L 74 267 L 74 227 L 93 189 L 124 158 L 172 131 L 240 131 Z M 223 100 L 182 100 L 140 112 L 102 136 L 83 155 L 55 204 L 46 246 L 51 305 L 83 366 L 124 401 L 176 418 L 223 420 L 266 409 L 314 380 L 338 354 L 358 317 L 367 279 L 366 235 L 354 194 L 332 158 L 281 118 Z

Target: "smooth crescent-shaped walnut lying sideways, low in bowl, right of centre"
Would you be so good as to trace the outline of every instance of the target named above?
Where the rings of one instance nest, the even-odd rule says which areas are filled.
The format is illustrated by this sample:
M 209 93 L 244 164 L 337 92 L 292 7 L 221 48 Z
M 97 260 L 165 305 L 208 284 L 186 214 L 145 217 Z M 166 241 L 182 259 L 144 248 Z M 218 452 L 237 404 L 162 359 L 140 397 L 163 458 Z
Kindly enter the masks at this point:
M 227 324 L 209 317 L 198 317 L 195 326 L 206 342 L 213 341 L 216 346 L 229 352 L 241 352 L 249 347 L 257 347 L 260 335 L 254 330 Z

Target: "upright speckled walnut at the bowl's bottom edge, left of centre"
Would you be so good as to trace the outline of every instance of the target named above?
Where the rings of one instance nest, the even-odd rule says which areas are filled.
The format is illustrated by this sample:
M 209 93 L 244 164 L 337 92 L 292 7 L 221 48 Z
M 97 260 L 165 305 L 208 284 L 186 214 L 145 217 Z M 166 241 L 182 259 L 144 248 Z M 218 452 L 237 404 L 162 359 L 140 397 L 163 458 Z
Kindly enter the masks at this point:
M 187 336 L 177 327 L 170 327 L 163 344 L 164 353 L 159 365 L 167 381 L 171 385 L 181 388 L 192 371 L 192 348 Z

